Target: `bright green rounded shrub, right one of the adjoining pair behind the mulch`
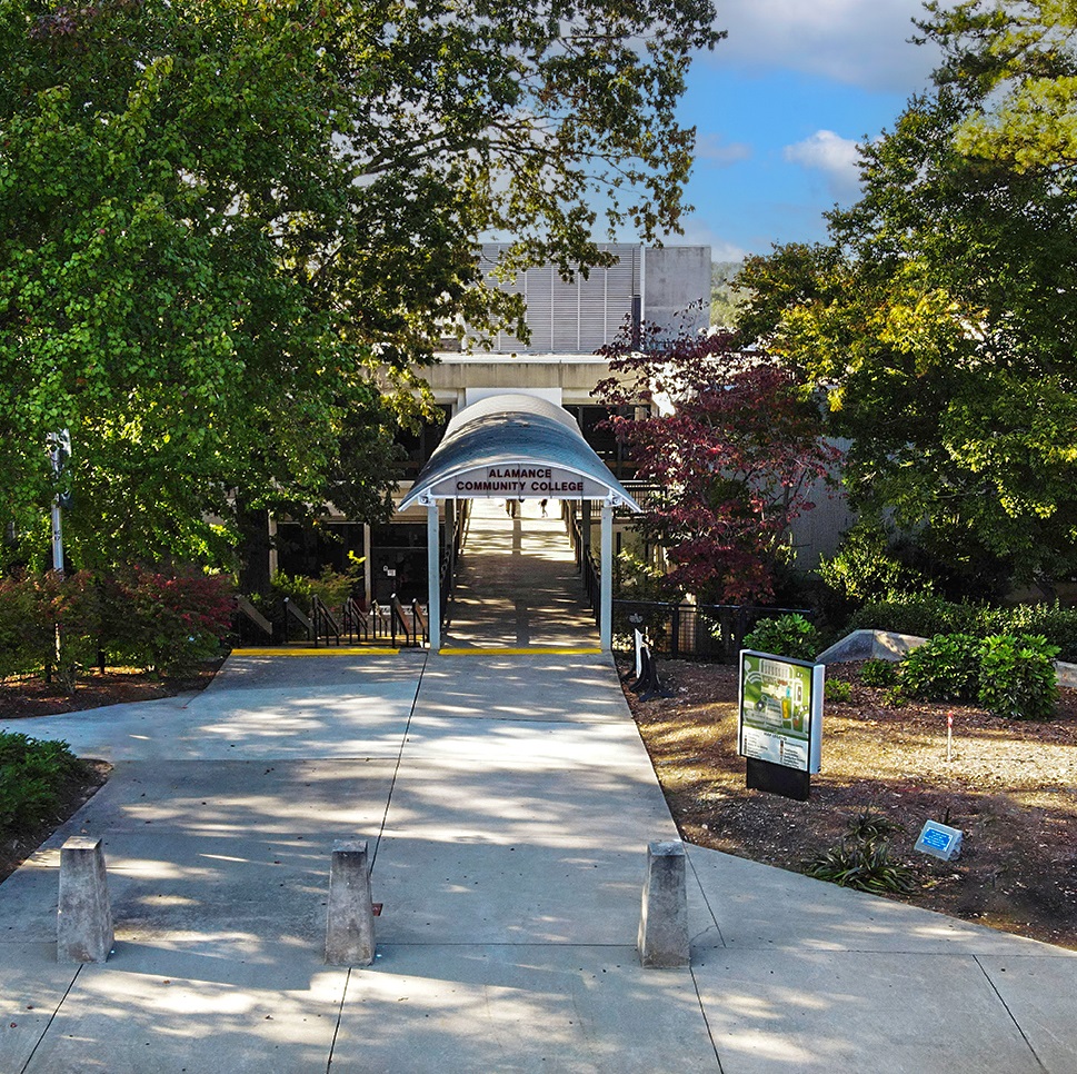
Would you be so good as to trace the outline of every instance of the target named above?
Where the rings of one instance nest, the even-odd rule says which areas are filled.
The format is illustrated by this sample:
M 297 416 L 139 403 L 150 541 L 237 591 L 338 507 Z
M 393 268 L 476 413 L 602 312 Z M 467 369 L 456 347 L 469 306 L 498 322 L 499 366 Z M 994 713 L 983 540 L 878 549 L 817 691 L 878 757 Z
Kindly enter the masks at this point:
M 1058 700 L 1058 646 L 1043 635 L 1000 634 L 980 646 L 978 699 L 996 716 L 1046 719 Z

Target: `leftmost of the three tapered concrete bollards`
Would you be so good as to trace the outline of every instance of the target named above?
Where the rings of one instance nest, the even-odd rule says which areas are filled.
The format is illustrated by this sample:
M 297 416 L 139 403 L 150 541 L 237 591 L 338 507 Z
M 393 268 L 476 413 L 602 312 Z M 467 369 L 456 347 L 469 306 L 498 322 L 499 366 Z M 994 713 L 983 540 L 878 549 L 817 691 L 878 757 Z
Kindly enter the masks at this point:
M 60 847 L 57 962 L 104 962 L 113 939 L 101 841 L 72 836 Z

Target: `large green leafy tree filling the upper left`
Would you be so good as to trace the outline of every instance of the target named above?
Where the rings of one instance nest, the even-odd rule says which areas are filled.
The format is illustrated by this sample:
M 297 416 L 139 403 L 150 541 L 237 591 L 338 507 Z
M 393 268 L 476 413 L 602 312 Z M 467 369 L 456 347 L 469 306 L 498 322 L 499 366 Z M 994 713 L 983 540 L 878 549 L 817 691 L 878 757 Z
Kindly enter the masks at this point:
M 79 566 L 212 558 L 245 515 L 383 510 L 411 371 L 520 316 L 507 269 L 675 228 L 709 0 L 0 6 L 0 517 L 62 484 Z M 209 523 L 203 519 L 213 518 Z M 39 545 L 41 543 L 39 541 Z

